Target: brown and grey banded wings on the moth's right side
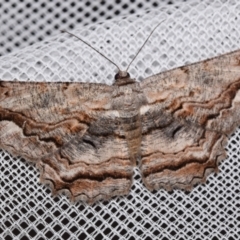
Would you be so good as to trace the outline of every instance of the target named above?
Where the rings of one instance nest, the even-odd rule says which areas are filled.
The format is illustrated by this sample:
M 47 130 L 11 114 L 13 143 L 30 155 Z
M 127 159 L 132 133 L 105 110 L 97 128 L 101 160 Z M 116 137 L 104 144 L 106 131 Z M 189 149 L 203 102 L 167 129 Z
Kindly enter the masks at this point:
M 145 79 L 141 171 L 149 189 L 191 189 L 217 171 L 240 123 L 240 51 Z

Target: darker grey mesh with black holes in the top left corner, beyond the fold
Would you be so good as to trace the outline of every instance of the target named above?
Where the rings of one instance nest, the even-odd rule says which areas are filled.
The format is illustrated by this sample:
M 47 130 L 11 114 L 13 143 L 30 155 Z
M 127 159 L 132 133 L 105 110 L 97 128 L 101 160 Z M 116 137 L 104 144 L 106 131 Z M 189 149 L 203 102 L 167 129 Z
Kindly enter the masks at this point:
M 172 1 L 0 1 L 0 56 L 58 34 L 59 29 L 74 29 L 139 10 L 172 4 Z

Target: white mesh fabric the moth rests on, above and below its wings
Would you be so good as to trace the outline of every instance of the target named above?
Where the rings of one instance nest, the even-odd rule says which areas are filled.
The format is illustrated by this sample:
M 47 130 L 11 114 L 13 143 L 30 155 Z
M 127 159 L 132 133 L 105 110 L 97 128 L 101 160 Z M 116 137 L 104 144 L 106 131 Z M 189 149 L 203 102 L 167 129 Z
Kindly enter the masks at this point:
M 87 40 L 137 80 L 240 48 L 238 1 L 186 1 L 77 27 Z M 0 58 L 0 79 L 113 82 L 116 68 L 86 45 L 59 33 Z M 229 139 L 220 172 L 190 193 L 151 193 L 139 171 L 128 196 L 93 206 L 53 198 L 33 164 L 0 152 L 1 239 L 238 239 L 240 130 Z

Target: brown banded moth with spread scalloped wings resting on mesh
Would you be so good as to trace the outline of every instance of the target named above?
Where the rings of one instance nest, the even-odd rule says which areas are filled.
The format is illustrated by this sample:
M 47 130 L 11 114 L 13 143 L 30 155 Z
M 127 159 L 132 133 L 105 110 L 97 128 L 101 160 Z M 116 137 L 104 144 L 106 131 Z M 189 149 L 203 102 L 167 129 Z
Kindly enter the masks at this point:
M 1 81 L 0 148 L 75 201 L 128 194 L 136 165 L 150 191 L 190 190 L 226 158 L 239 89 L 240 50 L 142 82 L 121 70 L 111 86 Z

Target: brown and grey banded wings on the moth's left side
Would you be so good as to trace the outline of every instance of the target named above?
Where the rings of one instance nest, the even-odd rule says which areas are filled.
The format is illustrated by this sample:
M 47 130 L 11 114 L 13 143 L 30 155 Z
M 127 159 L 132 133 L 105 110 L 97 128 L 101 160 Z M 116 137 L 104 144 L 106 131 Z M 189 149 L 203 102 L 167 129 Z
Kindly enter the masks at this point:
M 114 86 L 0 83 L 0 148 L 35 162 L 54 192 L 89 203 L 127 194 L 132 164 Z

